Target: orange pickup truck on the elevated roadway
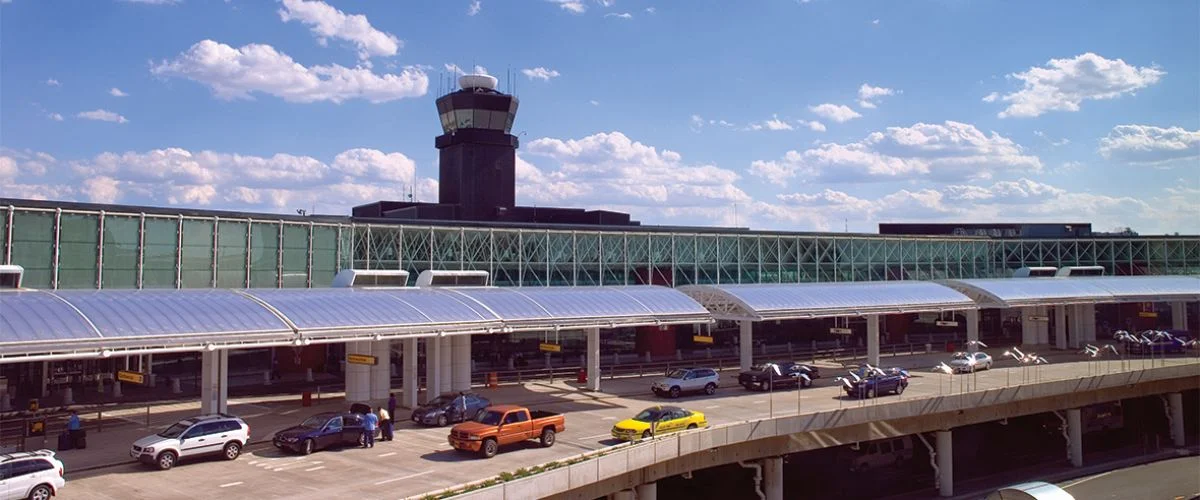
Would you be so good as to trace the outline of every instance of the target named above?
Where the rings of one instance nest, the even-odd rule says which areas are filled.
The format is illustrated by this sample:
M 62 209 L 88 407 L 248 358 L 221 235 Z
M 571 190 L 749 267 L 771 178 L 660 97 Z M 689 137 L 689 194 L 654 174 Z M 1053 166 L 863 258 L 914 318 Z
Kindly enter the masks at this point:
M 479 452 L 492 458 L 500 446 L 538 439 L 541 446 L 554 446 L 554 435 L 566 429 L 562 414 L 530 411 L 515 405 L 488 406 L 474 421 L 450 429 L 450 446 L 457 451 Z

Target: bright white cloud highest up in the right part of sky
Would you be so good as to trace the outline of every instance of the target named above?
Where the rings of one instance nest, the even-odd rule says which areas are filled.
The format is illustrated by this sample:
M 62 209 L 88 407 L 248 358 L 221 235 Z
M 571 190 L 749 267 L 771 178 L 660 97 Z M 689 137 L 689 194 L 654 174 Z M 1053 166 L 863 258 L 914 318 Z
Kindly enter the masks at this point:
M 1138 67 L 1121 59 L 1104 59 L 1093 53 L 1072 59 L 1051 59 L 1044 67 L 1031 67 L 1008 77 L 1020 80 L 1019 91 L 998 97 L 1008 104 L 1000 118 L 1031 118 L 1048 112 L 1078 112 L 1084 101 L 1111 100 L 1158 83 L 1166 72 Z M 990 94 L 984 102 L 992 102 Z

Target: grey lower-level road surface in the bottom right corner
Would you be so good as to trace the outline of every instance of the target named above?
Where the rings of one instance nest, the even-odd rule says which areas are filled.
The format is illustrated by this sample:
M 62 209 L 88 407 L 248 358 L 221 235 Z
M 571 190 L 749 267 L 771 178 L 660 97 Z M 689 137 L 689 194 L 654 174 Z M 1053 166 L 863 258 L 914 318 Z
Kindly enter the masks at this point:
M 1078 500 L 1200 496 L 1200 457 L 1172 458 L 1058 483 Z

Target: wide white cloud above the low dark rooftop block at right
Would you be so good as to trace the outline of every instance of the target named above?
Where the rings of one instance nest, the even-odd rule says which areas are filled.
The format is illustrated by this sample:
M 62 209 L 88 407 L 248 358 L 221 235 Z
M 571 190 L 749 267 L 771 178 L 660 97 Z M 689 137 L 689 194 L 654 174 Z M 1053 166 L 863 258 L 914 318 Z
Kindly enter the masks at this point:
M 796 176 L 803 176 L 804 182 L 954 181 L 989 179 L 996 171 L 1040 170 L 1042 161 L 1026 155 L 1012 139 L 955 121 L 888 127 L 857 143 L 823 143 L 750 164 L 752 175 L 780 186 Z

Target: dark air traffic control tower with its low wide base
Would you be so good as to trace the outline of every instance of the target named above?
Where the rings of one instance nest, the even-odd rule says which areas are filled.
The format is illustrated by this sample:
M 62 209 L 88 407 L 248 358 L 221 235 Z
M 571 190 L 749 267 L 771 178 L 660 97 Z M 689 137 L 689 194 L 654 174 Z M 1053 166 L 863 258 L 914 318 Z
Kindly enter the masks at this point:
M 437 100 L 438 203 L 376 201 L 354 207 L 354 217 L 636 225 L 629 213 L 516 206 L 520 143 L 511 132 L 520 101 L 496 84 L 488 74 L 464 74 L 458 90 Z

